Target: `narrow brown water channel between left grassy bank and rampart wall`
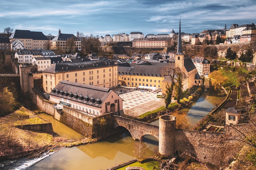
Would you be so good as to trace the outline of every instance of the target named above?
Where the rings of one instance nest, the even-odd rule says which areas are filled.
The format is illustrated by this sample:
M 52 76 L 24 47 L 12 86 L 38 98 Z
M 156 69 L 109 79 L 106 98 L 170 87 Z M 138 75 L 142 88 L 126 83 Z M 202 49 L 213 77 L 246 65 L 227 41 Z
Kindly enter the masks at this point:
M 51 115 L 47 115 L 45 113 L 40 113 L 38 116 L 52 123 L 52 128 L 55 133 L 60 135 L 61 137 L 65 137 L 67 139 L 81 139 L 84 135 L 76 132 L 75 130 L 69 128 L 58 120 L 54 119 Z

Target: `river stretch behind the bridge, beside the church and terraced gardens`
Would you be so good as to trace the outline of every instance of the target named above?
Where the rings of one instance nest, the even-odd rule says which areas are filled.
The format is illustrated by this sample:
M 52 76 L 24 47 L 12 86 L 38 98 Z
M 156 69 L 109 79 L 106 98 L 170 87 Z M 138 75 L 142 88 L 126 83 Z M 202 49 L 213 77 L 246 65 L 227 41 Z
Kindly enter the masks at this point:
M 213 89 L 213 86 L 206 86 L 202 96 L 191 106 L 181 109 L 180 112 L 187 113 L 188 120 L 192 125 L 196 124 L 205 115 L 208 115 L 215 107 L 220 104 L 224 97 Z M 151 124 L 159 125 L 159 120 L 151 122 Z

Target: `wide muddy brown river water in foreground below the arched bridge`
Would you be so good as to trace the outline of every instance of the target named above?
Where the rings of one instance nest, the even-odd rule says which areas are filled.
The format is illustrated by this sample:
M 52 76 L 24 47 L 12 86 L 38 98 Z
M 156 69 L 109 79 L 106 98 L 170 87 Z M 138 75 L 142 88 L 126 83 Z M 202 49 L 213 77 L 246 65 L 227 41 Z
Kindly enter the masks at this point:
M 107 169 L 133 159 L 136 143 L 138 144 L 138 141 L 127 136 L 127 133 L 113 135 L 97 143 L 61 149 L 28 170 Z M 148 156 L 155 156 L 155 153 L 146 148 L 143 157 Z

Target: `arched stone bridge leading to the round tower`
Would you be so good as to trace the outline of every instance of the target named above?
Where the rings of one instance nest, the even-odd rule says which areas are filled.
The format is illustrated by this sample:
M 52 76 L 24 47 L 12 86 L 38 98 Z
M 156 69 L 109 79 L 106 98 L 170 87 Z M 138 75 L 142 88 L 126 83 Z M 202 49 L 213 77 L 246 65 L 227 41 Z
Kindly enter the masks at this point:
M 114 115 L 114 117 L 115 129 L 119 126 L 126 128 L 127 130 L 129 130 L 134 140 L 140 140 L 144 135 L 152 135 L 159 140 L 159 126 L 136 121 L 133 119 L 128 119 L 121 116 Z

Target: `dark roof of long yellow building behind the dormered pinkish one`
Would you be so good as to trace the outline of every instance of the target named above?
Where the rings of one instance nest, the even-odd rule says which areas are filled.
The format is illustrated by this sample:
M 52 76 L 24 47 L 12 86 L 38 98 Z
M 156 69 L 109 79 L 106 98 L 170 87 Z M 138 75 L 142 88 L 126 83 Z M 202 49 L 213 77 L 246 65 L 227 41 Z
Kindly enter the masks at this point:
M 51 58 L 58 58 L 58 57 L 51 57 Z M 64 62 L 64 63 L 55 63 L 51 67 L 48 67 L 47 69 L 45 69 L 44 72 L 59 73 L 59 72 L 95 69 L 95 68 L 103 68 L 103 67 L 111 67 L 111 66 L 116 66 L 116 64 L 108 60 Z

